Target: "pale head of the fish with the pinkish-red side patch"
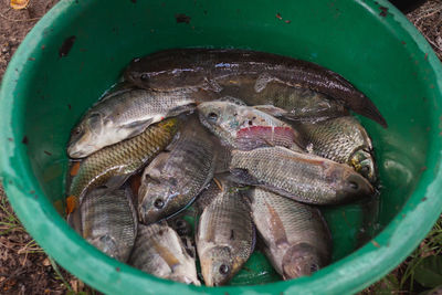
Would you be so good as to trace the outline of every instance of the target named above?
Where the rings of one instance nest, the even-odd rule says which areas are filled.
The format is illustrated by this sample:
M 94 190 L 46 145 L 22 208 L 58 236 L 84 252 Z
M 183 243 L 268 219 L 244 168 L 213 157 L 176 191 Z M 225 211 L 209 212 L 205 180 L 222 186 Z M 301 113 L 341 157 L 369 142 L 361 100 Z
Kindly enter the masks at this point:
M 241 127 L 238 104 L 231 102 L 206 102 L 197 106 L 200 122 L 228 145 L 234 145 L 234 136 Z

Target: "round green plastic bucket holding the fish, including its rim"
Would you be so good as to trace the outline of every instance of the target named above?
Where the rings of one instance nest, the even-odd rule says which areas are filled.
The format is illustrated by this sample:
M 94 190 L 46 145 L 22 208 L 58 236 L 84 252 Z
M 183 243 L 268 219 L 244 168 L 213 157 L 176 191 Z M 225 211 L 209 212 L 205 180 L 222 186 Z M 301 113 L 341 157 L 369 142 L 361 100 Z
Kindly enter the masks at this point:
M 323 210 L 334 235 L 329 266 L 287 282 L 259 285 L 273 278 L 253 281 L 242 271 L 239 286 L 188 286 L 106 256 L 59 213 L 65 145 L 81 115 L 133 57 L 189 46 L 252 49 L 318 63 L 349 80 L 386 117 L 388 129 L 361 118 L 373 139 L 380 197 L 368 211 L 366 204 Z M 46 253 L 105 293 L 355 293 L 406 259 L 442 211 L 441 103 L 439 60 L 383 0 L 65 0 L 35 25 L 4 75 L 1 177 L 18 217 Z M 265 263 L 257 253 L 250 268 Z M 250 283 L 256 285 L 244 285 Z

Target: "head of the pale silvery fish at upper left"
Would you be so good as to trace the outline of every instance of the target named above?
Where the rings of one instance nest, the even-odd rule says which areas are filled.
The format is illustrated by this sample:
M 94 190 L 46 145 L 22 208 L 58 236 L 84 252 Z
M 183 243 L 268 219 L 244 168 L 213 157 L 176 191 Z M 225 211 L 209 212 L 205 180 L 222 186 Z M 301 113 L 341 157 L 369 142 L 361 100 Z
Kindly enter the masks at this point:
M 72 129 L 67 144 L 71 158 L 84 158 L 96 150 L 96 135 L 103 133 L 104 122 L 99 113 L 91 113 Z

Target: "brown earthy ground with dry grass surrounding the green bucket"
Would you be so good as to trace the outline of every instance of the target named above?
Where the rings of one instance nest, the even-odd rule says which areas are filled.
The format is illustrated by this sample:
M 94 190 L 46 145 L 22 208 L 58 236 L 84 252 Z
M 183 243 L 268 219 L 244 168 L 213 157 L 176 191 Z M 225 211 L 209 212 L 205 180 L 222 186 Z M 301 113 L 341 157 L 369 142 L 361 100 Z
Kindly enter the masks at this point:
M 27 9 L 13 10 L 10 0 L 0 0 L 0 81 L 25 34 L 56 2 L 30 0 Z M 407 17 L 442 59 L 442 0 L 428 1 Z M 434 228 L 403 264 L 364 293 L 415 293 L 419 285 L 418 289 L 413 287 L 412 275 L 417 261 L 442 252 L 442 242 L 434 244 L 434 236 L 442 239 L 442 224 Z M 0 185 L 0 294 L 65 294 L 84 289 L 82 282 L 57 267 L 25 232 Z

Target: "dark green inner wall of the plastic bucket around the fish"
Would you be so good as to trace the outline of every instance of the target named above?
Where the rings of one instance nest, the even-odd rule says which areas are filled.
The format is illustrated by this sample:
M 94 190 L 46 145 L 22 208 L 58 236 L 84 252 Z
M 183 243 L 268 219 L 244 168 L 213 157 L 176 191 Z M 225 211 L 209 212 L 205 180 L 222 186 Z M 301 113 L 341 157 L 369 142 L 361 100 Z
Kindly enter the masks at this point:
M 391 14 L 379 15 L 379 7 L 365 2 L 254 1 L 251 9 L 248 1 L 72 1 L 71 13 L 43 30 L 42 45 L 27 62 L 29 86 L 20 93 L 27 98 L 15 109 L 42 191 L 63 214 L 70 131 L 131 59 L 194 46 L 293 56 L 343 75 L 389 124 L 383 129 L 360 118 L 373 141 L 380 196 L 322 208 L 334 238 L 333 260 L 347 256 L 396 217 L 419 183 L 434 128 L 431 114 L 439 108 L 434 85 L 427 82 L 432 72 L 420 64 L 424 53 L 410 54 L 408 46 L 418 50 L 417 44 L 386 23 Z M 262 283 L 246 280 L 236 283 Z

